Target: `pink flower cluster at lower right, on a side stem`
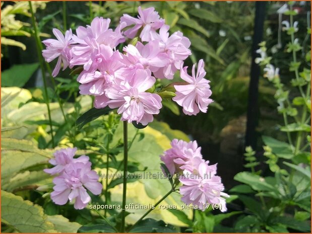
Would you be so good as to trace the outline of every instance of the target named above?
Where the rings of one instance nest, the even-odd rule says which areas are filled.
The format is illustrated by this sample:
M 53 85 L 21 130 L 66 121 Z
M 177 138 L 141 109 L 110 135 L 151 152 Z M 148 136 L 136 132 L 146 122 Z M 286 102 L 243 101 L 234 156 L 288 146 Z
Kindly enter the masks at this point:
M 179 178 L 182 183 L 179 191 L 184 203 L 197 205 L 201 210 L 206 209 L 207 204 L 221 204 L 221 211 L 227 210 L 224 197 L 229 196 L 222 192 L 224 186 L 216 176 L 217 165 L 205 162 L 196 141 L 173 139 L 171 148 L 164 151 L 160 159 L 171 175 L 183 174 Z

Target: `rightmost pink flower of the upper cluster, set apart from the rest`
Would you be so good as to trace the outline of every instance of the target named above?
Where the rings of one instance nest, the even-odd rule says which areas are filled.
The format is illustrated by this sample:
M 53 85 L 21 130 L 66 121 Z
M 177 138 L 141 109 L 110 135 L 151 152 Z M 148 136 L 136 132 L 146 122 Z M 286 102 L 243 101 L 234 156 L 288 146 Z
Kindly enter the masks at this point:
M 186 71 L 188 67 L 182 68 L 181 64 L 181 79 L 188 84 L 174 86 L 176 96 L 172 100 L 183 107 L 183 112 L 186 115 L 197 115 L 199 111 L 206 113 L 208 105 L 213 102 L 209 98 L 211 96 L 210 81 L 204 78 L 206 71 L 204 70 L 203 59 L 198 62 L 196 74 L 195 65 L 193 65 L 192 76 L 190 76 Z

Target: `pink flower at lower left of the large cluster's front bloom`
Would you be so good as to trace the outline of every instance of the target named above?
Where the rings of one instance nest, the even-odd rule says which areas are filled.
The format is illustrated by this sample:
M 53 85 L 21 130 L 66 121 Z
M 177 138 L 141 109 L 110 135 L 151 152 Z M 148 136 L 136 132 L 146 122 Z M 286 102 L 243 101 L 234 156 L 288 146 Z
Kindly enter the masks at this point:
M 104 108 L 109 100 L 105 91 L 115 80 L 116 72 L 124 67 L 121 63 L 122 55 L 119 51 L 113 52 L 110 48 L 102 47 L 100 49 L 102 60 L 97 64 L 98 70 L 82 71 L 77 78 L 81 84 L 79 86 L 80 94 L 95 96 L 95 108 Z

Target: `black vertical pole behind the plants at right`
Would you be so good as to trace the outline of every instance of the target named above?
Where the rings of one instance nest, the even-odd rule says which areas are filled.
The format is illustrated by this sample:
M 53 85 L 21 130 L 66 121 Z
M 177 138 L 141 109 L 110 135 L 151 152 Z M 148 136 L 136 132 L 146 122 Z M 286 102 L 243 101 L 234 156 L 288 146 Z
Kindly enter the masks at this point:
M 256 2 L 254 37 L 252 45 L 252 65 L 250 73 L 250 83 L 248 91 L 248 107 L 247 107 L 247 126 L 245 145 L 257 147 L 256 127 L 258 125 L 259 107 L 258 107 L 258 86 L 260 67 L 255 63 L 255 58 L 259 56 L 256 50 L 259 48 L 259 43 L 263 38 L 263 26 L 265 20 L 266 2 Z

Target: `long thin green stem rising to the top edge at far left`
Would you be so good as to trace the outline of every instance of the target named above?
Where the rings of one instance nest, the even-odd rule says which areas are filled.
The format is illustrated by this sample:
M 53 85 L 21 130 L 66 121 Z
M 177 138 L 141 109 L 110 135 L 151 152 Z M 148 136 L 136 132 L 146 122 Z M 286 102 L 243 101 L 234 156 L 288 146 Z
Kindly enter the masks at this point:
M 38 30 L 37 30 L 37 26 L 36 26 L 36 21 L 35 21 L 35 15 L 34 15 L 34 11 L 32 9 L 32 5 L 31 2 L 28 2 L 29 4 L 29 10 L 31 13 L 31 21 L 33 24 L 33 28 L 34 28 L 34 36 L 35 36 L 35 40 L 36 40 L 36 47 L 37 47 L 37 55 L 38 55 L 38 59 L 40 62 L 40 67 L 41 67 L 41 73 L 42 73 L 42 80 L 43 80 L 43 86 L 44 86 L 44 101 L 48 110 L 48 117 L 49 117 L 49 125 L 51 128 L 51 142 L 52 142 L 52 147 L 55 147 L 55 142 L 54 142 L 54 136 L 53 136 L 53 128 L 52 128 L 52 119 L 51 119 L 51 110 L 50 110 L 50 102 L 49 102 L 49 97 L 48 97 L 48 91 L 47 91 L 47 84 L 46 84 L 46 80 L 45 80 L 45 69 L 44 69 L 44 63 L 43 63 L 43 59 L 41 56 L 41 51 L 42 49 L 40 48 L 40 40 L 39 40 L 39 34 L 38 34 Z

